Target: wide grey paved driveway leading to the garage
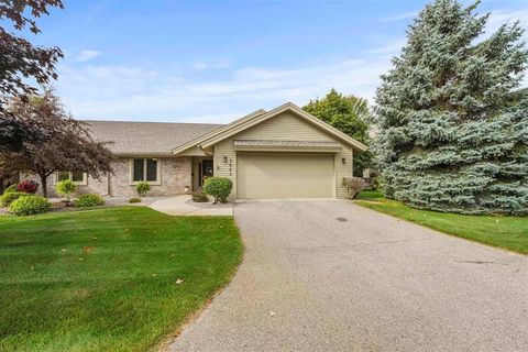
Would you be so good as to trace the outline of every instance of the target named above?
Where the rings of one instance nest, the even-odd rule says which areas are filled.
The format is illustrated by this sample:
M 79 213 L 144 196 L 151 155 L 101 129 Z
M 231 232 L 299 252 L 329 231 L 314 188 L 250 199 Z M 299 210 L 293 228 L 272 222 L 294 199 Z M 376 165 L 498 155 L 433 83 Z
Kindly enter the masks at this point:
M 170 351 L 527 351 L 527 256 L 348 201 L 234 212 L 244 262 Z

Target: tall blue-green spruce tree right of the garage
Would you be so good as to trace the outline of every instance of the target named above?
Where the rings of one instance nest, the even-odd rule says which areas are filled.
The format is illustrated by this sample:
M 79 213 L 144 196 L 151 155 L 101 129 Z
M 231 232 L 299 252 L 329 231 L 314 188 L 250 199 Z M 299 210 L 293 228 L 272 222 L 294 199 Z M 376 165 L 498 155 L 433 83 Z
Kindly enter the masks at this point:
M 461 213 L 528 212 L 528 52 L 519 23 L 482 37 L 479 1 L 436 0 L 376 96 L 386 195 Z

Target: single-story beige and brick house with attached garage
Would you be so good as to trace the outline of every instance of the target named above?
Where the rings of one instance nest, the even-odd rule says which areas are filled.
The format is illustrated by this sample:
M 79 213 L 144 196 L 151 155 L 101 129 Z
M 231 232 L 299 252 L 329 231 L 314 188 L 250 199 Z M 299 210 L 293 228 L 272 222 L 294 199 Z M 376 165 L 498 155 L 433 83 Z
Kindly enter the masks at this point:
M 72 179 L 80 193 L 135 196 L 135 184 L 152 185 L 150 196 L 198 190 L 205 178 L 233 182 L 231 198 L 344 198 L 343 177 L 352 176 L 352 155 L 366 146 L 293 103 L 257 110 L 230 124 L 86 121 L 94 139 L 113 141 L 113 175 L 101 180 L 82 172 L 61 172 L 54 184 Z

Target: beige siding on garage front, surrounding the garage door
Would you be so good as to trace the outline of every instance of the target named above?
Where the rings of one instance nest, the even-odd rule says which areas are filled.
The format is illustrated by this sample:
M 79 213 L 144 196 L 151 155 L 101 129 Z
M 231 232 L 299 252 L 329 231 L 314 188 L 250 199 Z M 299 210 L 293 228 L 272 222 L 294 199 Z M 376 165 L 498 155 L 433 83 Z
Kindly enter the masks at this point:
M 237 153 L 233 145 L 234 140 L 334 141 L 340 143 L 342 150 L 334 155 L 336 197 L 345 198 L 346 191 L 341 186 L 341 179 L 352 176 L 352 148 L 292 112 L 284 112 L 273 117 L 215 144 L 215 176 L 228 177 L 233 182 L 231 198 L 237 197 Z M 223 162 L 224 156 L 228 157 L 228 163 Z M 345 164 L 342 163 L 343 157 L 345 158 Z

